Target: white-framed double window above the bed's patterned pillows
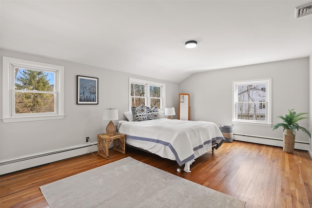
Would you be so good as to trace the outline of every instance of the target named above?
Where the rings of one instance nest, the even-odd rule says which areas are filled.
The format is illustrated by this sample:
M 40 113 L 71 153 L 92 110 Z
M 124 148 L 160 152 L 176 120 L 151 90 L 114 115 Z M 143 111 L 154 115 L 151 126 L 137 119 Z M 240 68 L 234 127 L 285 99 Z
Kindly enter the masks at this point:
M 129 78 L 130 109 L 140 105 L 165 109 L 165 87 L 164 83 Z

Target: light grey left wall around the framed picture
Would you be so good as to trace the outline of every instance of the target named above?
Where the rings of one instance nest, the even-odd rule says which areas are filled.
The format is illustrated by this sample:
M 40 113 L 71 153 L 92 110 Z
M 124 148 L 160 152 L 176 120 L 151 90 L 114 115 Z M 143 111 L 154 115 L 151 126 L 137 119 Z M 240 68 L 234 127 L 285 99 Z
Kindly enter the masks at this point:
M 0 121 L 0 161 L 85 145 L 87 136 L 90 137 L 91 143 L 97 142 L 97 134 L 105 132 L 108 124 L 108 121 L 102 120 L 104 108 L 117 108 L 119 120 L 126 119 L 123 112 L 128 111 L 129 106 L 129 77 L 166 83 L 166 106 L 177 106 L 178 103 L 178 84 L 174 82 L 8 50 L 1 50 L 0 55 L 0 80 L 2 80 L 2 56 L 65 67 L 65 118 L 17 123 Z M 98 105 L 76 104 L 77 75 L 98 77 Z M 2 103 L 2 86 L 0 103 Z M 116 124 L 116 121 L 114 123 Z

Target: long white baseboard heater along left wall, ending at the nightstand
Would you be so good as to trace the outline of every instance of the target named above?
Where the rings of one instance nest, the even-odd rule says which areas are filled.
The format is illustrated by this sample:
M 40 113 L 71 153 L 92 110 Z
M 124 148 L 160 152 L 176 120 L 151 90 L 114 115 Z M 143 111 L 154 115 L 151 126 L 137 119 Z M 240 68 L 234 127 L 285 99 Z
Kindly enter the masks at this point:
M 0 175 L 98 151 L 97 143 L 0 161 Z

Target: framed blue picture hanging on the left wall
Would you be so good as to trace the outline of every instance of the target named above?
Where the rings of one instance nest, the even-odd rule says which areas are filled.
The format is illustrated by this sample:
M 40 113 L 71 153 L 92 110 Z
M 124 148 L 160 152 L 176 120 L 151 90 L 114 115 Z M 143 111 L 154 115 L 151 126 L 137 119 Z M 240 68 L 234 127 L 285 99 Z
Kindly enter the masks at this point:
M 98 78 L 77 76 L 77 104 L 98 104 Z

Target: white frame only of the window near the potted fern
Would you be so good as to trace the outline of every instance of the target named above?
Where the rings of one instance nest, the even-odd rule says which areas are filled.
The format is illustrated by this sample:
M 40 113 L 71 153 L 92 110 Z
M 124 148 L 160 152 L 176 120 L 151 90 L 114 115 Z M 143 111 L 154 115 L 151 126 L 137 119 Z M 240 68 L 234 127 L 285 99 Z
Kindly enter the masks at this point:
M 237 119 L 237 107 L 238 107 L 238 93 L 237 89 L 239 85 L 255 85 L 265 84 L 266 85 L 266 116 L 264 121 L 260 120 L 243 120 Z M 259 125 L 259 126 L 271 126 L 272 125 L 272 78 L 266 79 L 254 79 L 246 81 L 233 81 L 232 89 L 232 122 L 234 124 L 248 124 L 248 125 Z

